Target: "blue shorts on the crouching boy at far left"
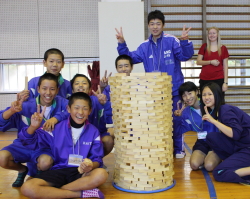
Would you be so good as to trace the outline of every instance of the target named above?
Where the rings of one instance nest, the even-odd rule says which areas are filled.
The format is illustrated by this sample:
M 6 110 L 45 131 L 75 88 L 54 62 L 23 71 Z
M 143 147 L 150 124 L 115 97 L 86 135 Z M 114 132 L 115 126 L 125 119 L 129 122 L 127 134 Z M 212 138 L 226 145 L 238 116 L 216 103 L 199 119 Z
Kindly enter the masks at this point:
M 21 141 L 19 141 L 18 139 L 16 139 L 14 143 L 2 148 L 2 150 L 9 151 L 14 158 L 14 162 L 16 163 L 37 163 L 37 158 L 42 154 L 47 154 L 51 156 L 52 159 L 54 159 L 54 156 L 49 148 L 31 150 L 23 146 Z

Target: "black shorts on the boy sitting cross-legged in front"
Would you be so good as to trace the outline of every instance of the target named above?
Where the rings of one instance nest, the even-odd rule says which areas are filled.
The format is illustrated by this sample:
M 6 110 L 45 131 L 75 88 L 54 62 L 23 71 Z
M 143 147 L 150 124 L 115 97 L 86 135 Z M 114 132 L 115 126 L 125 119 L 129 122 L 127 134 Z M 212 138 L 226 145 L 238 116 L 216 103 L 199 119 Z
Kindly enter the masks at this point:
M 78 167 L 68 167 L 42 172 L 36 175 L 35 178 L 45 180 L 52 187 L 61 188 L 63 185 L 71 183 L 82 176 L 83 174 L 79 173 Z

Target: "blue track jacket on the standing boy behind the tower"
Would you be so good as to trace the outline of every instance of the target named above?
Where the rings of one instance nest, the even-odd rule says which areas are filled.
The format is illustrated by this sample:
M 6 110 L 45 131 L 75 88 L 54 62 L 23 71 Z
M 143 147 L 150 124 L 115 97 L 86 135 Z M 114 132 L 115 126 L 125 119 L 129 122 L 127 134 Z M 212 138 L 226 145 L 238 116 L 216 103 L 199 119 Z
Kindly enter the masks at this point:
M 164 34 L 155 43 L 152 35 L 143 42 L 136 51 L 129 51 L 126 42 L 118 43 L 119 55 L 126 54 L 133 59 L 133 63 L 143 62 L 146 72 L 167 72 L 172 76 L 172 95 L 178 95 L 178 88 L 183 83 L 180 61 L 189 60 L 194 54 L 193 43 L 179 40 L 173 35 Z

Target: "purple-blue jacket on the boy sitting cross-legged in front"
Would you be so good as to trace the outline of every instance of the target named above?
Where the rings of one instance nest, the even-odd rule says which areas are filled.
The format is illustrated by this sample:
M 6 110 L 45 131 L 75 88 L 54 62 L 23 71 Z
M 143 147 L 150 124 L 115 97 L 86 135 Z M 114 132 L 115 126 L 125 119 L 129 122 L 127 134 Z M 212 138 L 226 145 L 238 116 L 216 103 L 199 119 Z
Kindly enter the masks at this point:
M 73 144 L 69 119 L 57 124 L 52 133 L 37 129 L 34 134 L 30 135 L 27 133 L 27 127 L 25 127 L 18 135 L 23 145 L 31 150 L 51 149 L 55 159 L 51 170 L 75 167 L 74 165 L 68 165 L 68 159 L 69 154 L 78 154 L 78 148 L 79 155 L 82 155 L 83 159 L 89 158 L 92 162 L 100 163 L 100 167 L 102 167 L 103 144 L 100 133 L 88 121 L 85 122 L 85 127 L 76 145 Z

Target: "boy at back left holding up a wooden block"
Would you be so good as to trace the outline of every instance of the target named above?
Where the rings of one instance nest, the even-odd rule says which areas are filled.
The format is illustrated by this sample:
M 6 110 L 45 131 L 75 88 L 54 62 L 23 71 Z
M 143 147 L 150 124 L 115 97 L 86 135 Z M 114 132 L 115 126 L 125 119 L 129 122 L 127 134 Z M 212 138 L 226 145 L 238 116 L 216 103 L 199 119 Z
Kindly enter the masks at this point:
M 43 65 L 47 68 L 46 73 L 51 73 L 57 76 L 59 84 L 59 91 L 57 95 L 63 98 L 69 97 L 71 95 L 70 83 L 60 74 L 62 68 L 64 67 L 63 53 L 59 49 L 48 49 L 44 53 Z M 36 90 L 39 78 L 40 76 L 32 78 L 28 83 L 28 90 L 23 90 L 22 92 L 20 92 L 18 94 L 19 98 L 36 98 L 39 95 L 38 91 Z

